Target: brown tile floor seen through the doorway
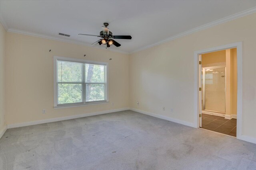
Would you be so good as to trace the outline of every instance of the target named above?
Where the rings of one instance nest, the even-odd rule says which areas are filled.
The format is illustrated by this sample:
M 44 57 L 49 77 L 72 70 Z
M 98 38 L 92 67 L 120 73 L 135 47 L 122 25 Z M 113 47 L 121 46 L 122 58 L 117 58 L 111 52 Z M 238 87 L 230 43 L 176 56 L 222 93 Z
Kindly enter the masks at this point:
M 236 137 L 236 119 L 202 114 L 202 128 Z

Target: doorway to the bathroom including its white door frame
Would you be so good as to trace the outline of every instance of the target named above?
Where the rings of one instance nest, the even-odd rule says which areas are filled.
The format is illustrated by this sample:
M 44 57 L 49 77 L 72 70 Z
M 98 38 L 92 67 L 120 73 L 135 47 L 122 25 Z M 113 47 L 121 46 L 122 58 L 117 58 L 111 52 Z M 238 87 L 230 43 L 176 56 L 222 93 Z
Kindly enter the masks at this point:
M 204 55 L 221 53 L 220 51 L 228 55 L 225 62 L 204 62 Z M 232 51 L 236 54 L 235 64 L 232 61 Z M 194 112 L 196 114 L 195 127 L 240 139 L 242 132 L 242 43 L 195 51 L 194 56 L 197 67 L 199 63 L 198 69 L 195 70 L 195 76 L 198 78 L 195 81 L 197 90 L 194 94 L 198 99 L 198 107 Z M 212 60 L 218 58 L 216 54 L 214 56 Z M 234 75 L 235 80 L 232 78 Z M 236 87 L 231 87 L 234 84 Z

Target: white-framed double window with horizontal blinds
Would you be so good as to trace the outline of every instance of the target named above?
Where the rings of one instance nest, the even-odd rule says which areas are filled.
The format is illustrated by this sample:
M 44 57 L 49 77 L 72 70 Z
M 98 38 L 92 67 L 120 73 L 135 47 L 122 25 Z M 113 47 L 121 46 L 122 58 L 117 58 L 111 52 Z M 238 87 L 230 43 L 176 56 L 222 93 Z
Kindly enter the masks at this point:
M 54 57 L 54 106 L 107 102 L 107 63 Z

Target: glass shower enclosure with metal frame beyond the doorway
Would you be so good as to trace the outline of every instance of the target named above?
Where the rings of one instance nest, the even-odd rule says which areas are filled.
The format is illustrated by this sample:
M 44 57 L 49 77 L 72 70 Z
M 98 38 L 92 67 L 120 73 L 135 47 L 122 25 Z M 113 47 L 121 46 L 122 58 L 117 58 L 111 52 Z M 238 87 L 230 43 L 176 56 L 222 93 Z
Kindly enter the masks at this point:
M 226 112 L 226 67 L 202 68 L 202 110 Z

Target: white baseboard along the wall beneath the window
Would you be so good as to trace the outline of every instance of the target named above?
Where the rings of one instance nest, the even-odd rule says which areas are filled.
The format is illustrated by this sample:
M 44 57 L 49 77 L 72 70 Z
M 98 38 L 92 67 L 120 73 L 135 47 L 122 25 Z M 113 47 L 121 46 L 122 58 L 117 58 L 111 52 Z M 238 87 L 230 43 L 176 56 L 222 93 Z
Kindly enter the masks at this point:
M 94 116 L 94 115 L 102 115 L 106 113 L 112 113 L 112 112 L 117 112 L 117 111 L 124 111 L 124 110 L 129 110 L 129 107 L 126 108 L 120 108 L 120 109 L 112 109 L 112 110 L 106 110 L 106 111 L 99 111 L 99 112 L 94 112 L 94 113 L 85 113 L 82 115 L 72 115 L 72 116 L 66 116 L 66 117 L 56 117 L 52 119 L 44 119 L 44 120 L 39 120 L 39 121 L 29 121 L 29 122 L 24 122 L 24 123 L 17 123 L 17 124 L 10 124 L 7 125 L 7 129 L 10 128 L 15 128 L 15 127 L 24 127 L 24 126 L 30 126 L 30 125 L 38 125 L 42 123 L 50 123 L 50 122 L 55 122 L 55 121 L 63 121 L 63 120 L 69 120 L 69 119 L 76 119 L 80 117 L 88 117 L 88 116 Z

